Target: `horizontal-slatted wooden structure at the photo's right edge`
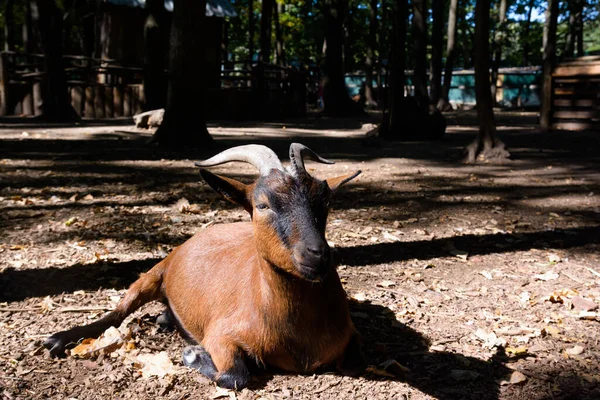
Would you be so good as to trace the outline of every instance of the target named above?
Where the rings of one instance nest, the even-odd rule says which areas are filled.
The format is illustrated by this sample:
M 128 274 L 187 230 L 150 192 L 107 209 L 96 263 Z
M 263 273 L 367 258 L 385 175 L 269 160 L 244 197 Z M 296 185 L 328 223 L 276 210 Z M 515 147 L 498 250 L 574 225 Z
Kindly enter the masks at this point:
M 600 57 L 560 63 L 552 74 L 552 128 L 600 130 Z

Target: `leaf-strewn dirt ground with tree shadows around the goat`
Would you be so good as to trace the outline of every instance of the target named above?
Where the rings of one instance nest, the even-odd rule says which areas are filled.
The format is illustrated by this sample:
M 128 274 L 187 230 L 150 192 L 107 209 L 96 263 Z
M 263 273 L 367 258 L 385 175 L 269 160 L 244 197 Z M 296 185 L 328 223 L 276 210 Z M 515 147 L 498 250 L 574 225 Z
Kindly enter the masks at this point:
M 1 397 L 600 398 L 599 133 L 500 118 L 513 159 L 472 166 L 457 162 L 475 132 L 452 125 L 464 121 L 451 116 L 438 143 L 365 140 L 358 119 L 213 124 L 214 148 L 186 153 L 159 151 L 126 123 L 4 123 Z M 292 141 L 336 161 L 307 164 L 317 177 L 363 171 L 327 229 L 365 342 L 363 376 L 263 371 L 248 389 L 220 390 L 182 366 L 184 340 L 155 324 L 160 304 L 125 321 L 118 350 L 48 356 L 45 337 L 114 308 L 195 232 L 248 220 L 199 181 L 194 161 L 246 143 L 287 161 Z

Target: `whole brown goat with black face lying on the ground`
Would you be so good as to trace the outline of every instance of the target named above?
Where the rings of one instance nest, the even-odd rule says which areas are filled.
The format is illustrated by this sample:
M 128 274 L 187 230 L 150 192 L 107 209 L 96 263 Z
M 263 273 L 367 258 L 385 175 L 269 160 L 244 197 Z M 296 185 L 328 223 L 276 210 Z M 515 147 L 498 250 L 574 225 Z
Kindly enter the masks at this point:
M 85 326 L 59 332 L 44 345 L 52 355 L 119 326 L 141 305 L 162 300 L 166 314 L 194 345 L 183 362 L 226 388 L 243 388 L 247 362 L 312 373 L 335 365 L 346 375 L 365 367 L 346 293 L 325 240 L 329 199 L 360 171 L 320 181 L 303 158 L 331 163 L 304 145 L 290 146 L 284 169 L 265 146 L 225 150 L 197 163 L 202 178 L 243 206 L 252 222 L 215 225 L 174 249 L 134 282 L 117 308 Z M 260 171 L 252 184 L 206 167 L 248 162 Z

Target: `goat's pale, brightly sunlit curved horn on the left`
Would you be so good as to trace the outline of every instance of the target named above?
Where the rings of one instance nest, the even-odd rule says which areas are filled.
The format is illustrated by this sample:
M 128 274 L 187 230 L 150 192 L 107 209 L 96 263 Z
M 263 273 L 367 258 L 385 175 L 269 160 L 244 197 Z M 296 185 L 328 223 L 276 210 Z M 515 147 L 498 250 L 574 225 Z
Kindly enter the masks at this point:
M 194 165 L 205 168 L 232 161 L 241 161 L 252 164 L 259 170 L 261 175 L 267 175 L 272 169 L 285 171 L 277 154 L 268 147 L 259 144 L 232 147 L 231 149 L 220 152 L 208 160 L 199 161 Z

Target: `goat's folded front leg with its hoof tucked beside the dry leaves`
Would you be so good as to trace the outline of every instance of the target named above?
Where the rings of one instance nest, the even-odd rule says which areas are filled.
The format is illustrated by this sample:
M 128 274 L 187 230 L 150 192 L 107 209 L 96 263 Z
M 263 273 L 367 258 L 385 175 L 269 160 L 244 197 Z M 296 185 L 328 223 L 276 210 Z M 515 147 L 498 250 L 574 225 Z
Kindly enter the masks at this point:
M 250 372 L 237 346 L 219 340 L 207 341 L 205 346 L 186 347 L 183 350 L 183 363 L 223 388 L 239 390 L 248 385 Z

